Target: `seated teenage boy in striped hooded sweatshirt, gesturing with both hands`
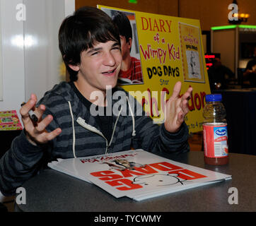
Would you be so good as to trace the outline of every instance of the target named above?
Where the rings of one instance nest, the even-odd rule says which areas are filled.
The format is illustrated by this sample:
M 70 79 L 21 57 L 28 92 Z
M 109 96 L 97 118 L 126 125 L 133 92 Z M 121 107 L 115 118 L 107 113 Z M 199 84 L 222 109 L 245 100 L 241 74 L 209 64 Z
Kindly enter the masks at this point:
M 118 114 L 91 114 L 91 109 L 107 111 L 110 106 L 114 110 L 119 100 L 113 98 L 114 94 L 111 101 L 107 100 L 106 88 L 112 87 L 112 93 L 118 90 L 132 100 L 124 90 L 115 88 L 122 62 L 120 35 L 107 14 L 98 8 L 78 9 L 59 29 L 59 49 L 71 82 L 55 85 L 38 104 L 37 97 L 31 95 L 21 108 L 25 129 L 0 160 L 2 194 L 15 194 L 18 186 L 57 158 L 99 155 L 131 147 L 153 153 L 189 150 L 184 117 L 192 88 L 179 97 L 181 83 L 175 85 L 167 102 L 166 120 L 161 126 L 137 114 L 138 109 L 133 110 L 128 101 Z M 95 93 L 103 98 L 92 97 Z M 31 109 L 39 119 L 36 124 L 29 117 Z M 122 109 L 127 109 L 126 114 L 120 114 Z

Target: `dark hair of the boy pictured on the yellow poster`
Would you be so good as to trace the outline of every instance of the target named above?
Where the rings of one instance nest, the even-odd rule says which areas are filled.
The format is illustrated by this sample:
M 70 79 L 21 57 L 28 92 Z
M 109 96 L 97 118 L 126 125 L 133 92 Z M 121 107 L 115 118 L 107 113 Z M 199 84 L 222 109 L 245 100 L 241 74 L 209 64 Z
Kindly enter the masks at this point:
M 129 37 L 132 38 L 132 26 L 125 13 L 122 13 L 120 11 L 115 12 L 112 20 L 117 25 L 120 35 L 124 36 L 126 42 L 128 42 Z

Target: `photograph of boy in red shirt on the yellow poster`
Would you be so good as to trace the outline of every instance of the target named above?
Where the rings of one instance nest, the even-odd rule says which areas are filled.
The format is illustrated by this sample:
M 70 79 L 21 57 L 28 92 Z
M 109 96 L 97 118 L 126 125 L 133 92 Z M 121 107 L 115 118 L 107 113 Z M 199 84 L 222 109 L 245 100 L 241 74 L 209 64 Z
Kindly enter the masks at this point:
M 112 18 L 120 32 L 122 66 L 118 78 L 119 85 L 143 84 L 135 13 L 110 8 L 100 9 Z

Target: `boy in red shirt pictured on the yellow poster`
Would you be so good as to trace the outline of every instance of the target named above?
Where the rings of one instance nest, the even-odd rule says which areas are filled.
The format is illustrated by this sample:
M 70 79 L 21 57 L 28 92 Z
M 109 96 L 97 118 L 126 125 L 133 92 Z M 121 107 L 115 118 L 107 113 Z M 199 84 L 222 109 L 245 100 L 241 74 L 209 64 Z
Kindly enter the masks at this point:
M 132 49 L 132 26 L 127 16 L 117 11 L 112 20 L 120 32 L 122 65 L 119 73 L 120 85 L 144 83 L 141 71 L 141 61 L 130 55 Z

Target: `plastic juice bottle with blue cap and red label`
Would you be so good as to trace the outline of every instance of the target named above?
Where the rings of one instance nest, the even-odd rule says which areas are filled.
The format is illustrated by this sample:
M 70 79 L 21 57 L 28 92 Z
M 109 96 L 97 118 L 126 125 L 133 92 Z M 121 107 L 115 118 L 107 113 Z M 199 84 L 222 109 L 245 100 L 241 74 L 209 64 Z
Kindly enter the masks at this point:
M 203 116 L 204 162 L 209 165 L 228 164 L 228 129 L 226 110 L 221 94 L 205 97 Z

